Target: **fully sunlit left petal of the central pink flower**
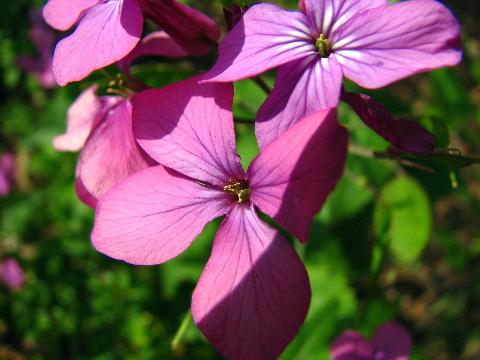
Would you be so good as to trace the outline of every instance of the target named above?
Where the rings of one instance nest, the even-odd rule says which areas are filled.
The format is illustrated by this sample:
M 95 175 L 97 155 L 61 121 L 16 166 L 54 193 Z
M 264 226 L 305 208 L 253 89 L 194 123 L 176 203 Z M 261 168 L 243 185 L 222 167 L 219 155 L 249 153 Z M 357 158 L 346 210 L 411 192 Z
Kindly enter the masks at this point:
M 92 232 L 99 252 L 139 265 L 160 264 L 183 252 L 231 198 L 158 165 L 111 188 L 98 202 Z

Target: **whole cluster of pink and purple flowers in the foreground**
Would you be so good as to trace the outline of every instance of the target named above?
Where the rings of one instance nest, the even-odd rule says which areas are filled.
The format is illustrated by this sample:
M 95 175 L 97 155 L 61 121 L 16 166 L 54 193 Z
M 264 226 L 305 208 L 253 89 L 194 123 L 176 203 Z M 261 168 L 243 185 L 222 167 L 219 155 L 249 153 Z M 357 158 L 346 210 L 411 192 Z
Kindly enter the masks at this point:
M 193 292 L 192 315 L 232 360 L 276 359 L 308 312 L 300 257 L 257 212 L 308 240 L 346 159 L 339 100 L 396 150 L 433 151 L 430 132 L 342 90 L 343 77 L 379 88 L 461 59 L 458 23 L 435 0 L 300 0 L 299 9 L 224 9 L 228 33 L 211 70 L 160 89 L 132 76 L 130 64 L 143 55 L 215 50 L 215 21 L 175 0 L 48 0 L 43 9 L 56 29 L 76 24 L 55 48 L 58 84 L 114 62 L 124 75 L 111 81 L 116 95 L 97 96 L 97 85 L 84 90 L 68 110 L 66 133 L 53 142 L 60 151 L 81 149 L 76 189 L 96 208 L 93 246 L 131 264 L 160 264 L 225 216 Z M 144 18 L 162 31 L 141 39 Z M 275 67 L 275 87 L 255 119 L 261 151 L 244 171 L 231 82 Z

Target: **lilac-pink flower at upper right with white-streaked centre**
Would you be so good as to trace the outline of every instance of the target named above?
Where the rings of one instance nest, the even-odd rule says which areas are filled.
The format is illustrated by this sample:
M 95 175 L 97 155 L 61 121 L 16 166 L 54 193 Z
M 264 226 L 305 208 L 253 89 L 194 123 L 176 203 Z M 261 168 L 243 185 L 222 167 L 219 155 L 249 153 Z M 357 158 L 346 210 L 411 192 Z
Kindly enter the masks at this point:
M 343 76 L 379 88 L 461 59 L 458 22 L 438 1 L 305 0 L 300 8 L 253 5 L 204 77 L 236 81 L 279 66 L 257 113 L 260 148 L 301 118 L 336 106 Z

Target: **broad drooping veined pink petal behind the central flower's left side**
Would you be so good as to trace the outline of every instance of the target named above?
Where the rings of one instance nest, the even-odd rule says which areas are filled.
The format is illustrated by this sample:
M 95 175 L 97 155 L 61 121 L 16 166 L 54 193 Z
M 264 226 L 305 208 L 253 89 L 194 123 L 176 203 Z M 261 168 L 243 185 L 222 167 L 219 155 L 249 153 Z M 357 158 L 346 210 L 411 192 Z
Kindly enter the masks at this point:
M 120 180 L 156 164 L 133 137 L 131 101 L 122 100 L 107 111 L 80 153 L 77 176 L 97 199 Z

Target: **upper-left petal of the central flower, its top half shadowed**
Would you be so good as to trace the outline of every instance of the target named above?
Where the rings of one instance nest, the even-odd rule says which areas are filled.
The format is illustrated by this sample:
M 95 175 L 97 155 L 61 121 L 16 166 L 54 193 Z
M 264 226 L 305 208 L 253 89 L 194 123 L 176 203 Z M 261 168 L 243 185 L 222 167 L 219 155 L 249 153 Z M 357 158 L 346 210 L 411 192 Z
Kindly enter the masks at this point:
M 133 131 L 160 164 L 225 185 L 244 175 L 235 152 L 233 85 L 198 84 L 201 76 L 140 93 L 133 108 Z

